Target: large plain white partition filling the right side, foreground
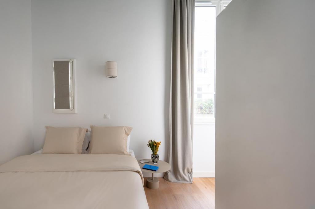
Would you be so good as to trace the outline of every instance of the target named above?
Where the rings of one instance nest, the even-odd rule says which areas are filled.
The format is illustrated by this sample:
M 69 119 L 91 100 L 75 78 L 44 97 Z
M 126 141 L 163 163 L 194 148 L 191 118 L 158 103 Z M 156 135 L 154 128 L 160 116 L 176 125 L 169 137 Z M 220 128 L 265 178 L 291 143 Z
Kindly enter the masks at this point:
M 315 206 L 314 8 L 234 0 L 217 18 L 216 209 Z

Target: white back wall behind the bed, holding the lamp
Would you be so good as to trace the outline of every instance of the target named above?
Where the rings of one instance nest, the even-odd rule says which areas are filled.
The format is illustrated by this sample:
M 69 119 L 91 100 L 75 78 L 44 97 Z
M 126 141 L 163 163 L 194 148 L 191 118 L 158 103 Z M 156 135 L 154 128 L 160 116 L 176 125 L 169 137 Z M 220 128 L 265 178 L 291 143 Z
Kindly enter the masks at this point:
M 35 149 L 46 125 L 129 125 L 130 148 L 150 158 L 147 140 L 168 136 L 171 1 L 32 0 Z M 51 59 L 77 59 L 77 114 L 52 113 Z M 105 77 L 116 61 L 118 77 Z M 103 119 L 110 113 L 111 119 Z

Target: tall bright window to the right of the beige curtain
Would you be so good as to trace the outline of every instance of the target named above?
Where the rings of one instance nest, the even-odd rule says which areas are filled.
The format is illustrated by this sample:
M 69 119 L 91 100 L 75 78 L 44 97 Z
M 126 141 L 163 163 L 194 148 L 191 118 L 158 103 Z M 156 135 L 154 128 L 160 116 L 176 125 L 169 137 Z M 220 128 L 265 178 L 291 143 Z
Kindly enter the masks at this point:
M 194 121 L 215 122 L 215 18 L 230 1 L 196 2 Z

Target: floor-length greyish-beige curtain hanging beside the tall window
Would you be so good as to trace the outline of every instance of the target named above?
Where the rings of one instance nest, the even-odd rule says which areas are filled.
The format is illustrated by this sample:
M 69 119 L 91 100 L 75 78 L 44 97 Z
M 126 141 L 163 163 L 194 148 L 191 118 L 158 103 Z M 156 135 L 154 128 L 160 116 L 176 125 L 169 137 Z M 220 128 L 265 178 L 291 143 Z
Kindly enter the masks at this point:
M 164 179 L 192 183 L 193 51 L 195 0 L 173 0 L 169 113 L 171 169 Z

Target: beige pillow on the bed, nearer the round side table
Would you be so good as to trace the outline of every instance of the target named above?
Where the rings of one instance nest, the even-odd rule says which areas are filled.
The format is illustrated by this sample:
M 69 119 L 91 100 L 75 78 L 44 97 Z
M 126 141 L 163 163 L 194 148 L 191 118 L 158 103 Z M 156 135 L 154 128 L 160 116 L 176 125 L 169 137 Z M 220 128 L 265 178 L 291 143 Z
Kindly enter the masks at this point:
M 132 130 L 129 126 L 91 126 L 90 154 L 130 155 L 127 152 L 127 138 Z

